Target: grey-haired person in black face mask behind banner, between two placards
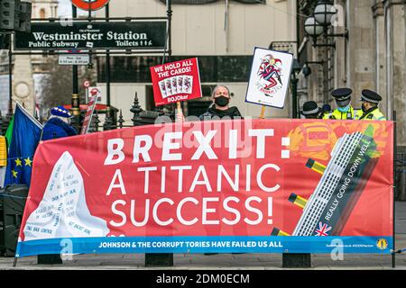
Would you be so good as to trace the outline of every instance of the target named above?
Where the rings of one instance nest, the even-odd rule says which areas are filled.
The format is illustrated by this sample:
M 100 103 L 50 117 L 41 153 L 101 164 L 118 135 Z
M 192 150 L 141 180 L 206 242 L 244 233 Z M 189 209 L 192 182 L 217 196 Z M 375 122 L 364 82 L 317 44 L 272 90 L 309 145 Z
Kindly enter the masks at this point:
M 213 103 L 208 107 L 208 111 L 198 118 L 204 120 L 219 119 L 243 119 L 243 116 L 235 106 L 230 107 L 230 90 L 225 85 L 217 85 L 211 94 Z

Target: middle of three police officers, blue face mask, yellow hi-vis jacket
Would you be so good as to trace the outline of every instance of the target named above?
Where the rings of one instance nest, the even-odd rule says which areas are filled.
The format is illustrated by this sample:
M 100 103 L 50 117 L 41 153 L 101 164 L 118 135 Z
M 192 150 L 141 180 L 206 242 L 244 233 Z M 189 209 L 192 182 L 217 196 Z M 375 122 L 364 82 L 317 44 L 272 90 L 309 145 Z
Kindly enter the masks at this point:
M 323 119 L 334 120 L 355 120 L 357 115 L 362 112 L 359 109 L 354 109 L 351 105 L 351 94 L 353 90 L 350 88 L 338 88 L 331 92 L 331 95 L 336 99 L 337 109 L 331 112 L 326 112 Z

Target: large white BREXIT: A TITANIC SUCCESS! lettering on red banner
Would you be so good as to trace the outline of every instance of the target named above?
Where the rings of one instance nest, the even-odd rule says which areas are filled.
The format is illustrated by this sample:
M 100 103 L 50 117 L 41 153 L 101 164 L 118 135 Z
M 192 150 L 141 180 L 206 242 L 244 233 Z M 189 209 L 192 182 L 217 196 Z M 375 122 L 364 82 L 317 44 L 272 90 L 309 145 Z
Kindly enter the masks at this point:
M 201 225 L 221 222 L 231 226 L 240 222 L 272 224 L 272 193 L 281 188 L 278 183 L 281 167 L 268 162 L 261 166 L 244 165 L 241 159 L 264 160 L 266 150 L 274 150 L 265 146 L 266 139 L 274 137 L 274 130 L 247 130 L 245 143 L 239 142 L 240 148 L 241 144 L 245 145 L 245 150 L 238 147 L 238 132 L 228 130 L 227 135 L 223 135 L 226 145 L 217 148 L 213 144 L 222 139 L 218 130 L 208 130 L 206 134 L 193 130 L 186 132 L 189 135 L 182 131 L 165 132 L 161 135 L 159 149 L 153 148 L 154 139 L 148 134 L 136 135 L 132 141 L 108 139 L 104 165 L 115 167 L 115 172 L 106 196 L 131 196 L 134 192 L 127 189 L 124 176 L 128 174 L 139 179 L 137 193 L 144 194 L 143 200 L 139 196 L 130 201 L 115 199 L 111 211 L 117 217 L 110 224 L 114 227 L 129 222 L 134 227 L 143 227 L 150 222 L 164 227 L 174 221 L 184 226 L 198 222 Z M 189 141 L 190 148 L 184 147 L 185 140 Z M 248 142 L 256 144 L 252 147 Z M 131 153 L 128 153 L 129 149 L 132 149 Z M 278 154 L 281 155 L 281 151 Z M 224 160 L 227 165 L 222 164 Z M 130 165 L 129 169 L 123 169 L 124 162 L 131 162 L 134 167 Z M 252 191 L 253 185 L 268 196 L 259 197 L 258 192 L 241 195 Z M 225 196 L 223 193 L 227 190 L 232 193 Z M 143 206 L 142 211 L 137 206 Z M 194 215 L 190 211 L 194 211 Z M 222 211 L 228 215 L 224 216 Z

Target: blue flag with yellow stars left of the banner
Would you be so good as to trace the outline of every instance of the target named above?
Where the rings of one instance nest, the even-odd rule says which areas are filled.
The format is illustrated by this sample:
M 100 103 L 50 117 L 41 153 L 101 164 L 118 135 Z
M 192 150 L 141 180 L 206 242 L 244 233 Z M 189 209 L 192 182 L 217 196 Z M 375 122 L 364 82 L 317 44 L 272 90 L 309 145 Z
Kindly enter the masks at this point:
M 30 186 L 32 158 L 40 142 L 42 124 L 17 103 L 14 112 L 13 136 L 9 143 L 5 185 Z

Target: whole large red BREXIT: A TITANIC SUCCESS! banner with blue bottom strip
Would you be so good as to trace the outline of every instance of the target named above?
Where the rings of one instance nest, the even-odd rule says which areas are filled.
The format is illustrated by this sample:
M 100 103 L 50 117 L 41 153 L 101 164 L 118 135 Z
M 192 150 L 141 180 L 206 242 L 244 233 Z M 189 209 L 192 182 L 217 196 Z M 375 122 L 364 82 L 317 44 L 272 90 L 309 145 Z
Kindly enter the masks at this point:
M 42 141 L 16 257 L 389 254 L 392 139 L 392 121 L 245 119 Z

